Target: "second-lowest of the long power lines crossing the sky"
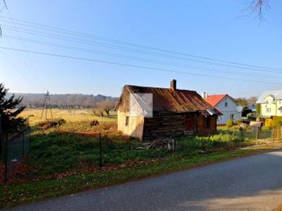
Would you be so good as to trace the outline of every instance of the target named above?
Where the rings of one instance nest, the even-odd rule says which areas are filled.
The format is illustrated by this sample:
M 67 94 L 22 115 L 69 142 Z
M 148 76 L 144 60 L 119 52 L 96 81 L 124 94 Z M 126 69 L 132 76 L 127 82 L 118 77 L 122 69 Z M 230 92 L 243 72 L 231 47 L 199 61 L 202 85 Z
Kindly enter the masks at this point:
M 9 36 L 9 35 L 3 35 L 3 37 L 7 37 L 7 38 L 10 38 L 10 39 L 19 39 L 18 37 Z M 161 61 L 161 60 L 152 60 L 152 59 L 147 59 L 147 58 L 137 58 L 137 57 L 133 57 L 133 56 L 123 56 L 123 55 L 120 55 L 120 54 L 117 54 L 117 53 L 108 53 L 108 52 L 104 52 L 104 51 L 95 51 L 95 50 L 92 50 L 92 49 L 84 49 L 84 48 L 79 48 L 79 47 L 74 47 L 74 46 L 54 44 L 54 43 L 51 43 L 51 42 L 38 41 L 38 40 L 35 40 L 35 39 L 23 38 L 23 40 L 32 42 L 34 44 L 42 44 L 42 45 L 46 45 L 46 46 L 60 47 L 60 48 L 63 48 L 63 49 L 72 49 L 72 50 L 76 50 L 76 51 L 85 51 L 87 53 L 97 53 L 99 55 L 113 56 L 113 57 L 117 57 L 117 58 L 126 58 L 126 59 L 130 59 L 130 60 L 139 60 L 139 61 L 143 61 L 143 62 L 158 63 L 158 64 L 161 64 L 161 65 L 171 65 L 171 66 L 178 67 L 178 68 L 193 68 L 193 69 L 202 70 L 202 71 L 209 71 L 209 72 L 224 72 L 224 73 L 233 74 L 233 75 L 255 76 L 254 74 L 245 73 L 245 72 L 232 72 L 232 71 L 226 71 L 226 70 L 214 70 L 214 69 L 211 69 L 211 68 L 202 68 L 202 67 L 191 66 L 191 65 L 170 63 L 170 62 L 164 62 L 164 61 Z M 256 70 L 256 71 L 272 72 L 271 70 Z M 278 73 L 282 74 L 282 72 L 278 72 Z M 261 75 L 259 75 L 259 76 L 261 76 Z M 269 76 L 263 75 L 262 77 L 269 77 Z M 269 78 L 271 78 L 271 77 L 269 77 Z M 272 78 L 274 78 L 274 77 L 272 77 Z M 278 78 L 275 77 L 275 79 L 278 79 Z

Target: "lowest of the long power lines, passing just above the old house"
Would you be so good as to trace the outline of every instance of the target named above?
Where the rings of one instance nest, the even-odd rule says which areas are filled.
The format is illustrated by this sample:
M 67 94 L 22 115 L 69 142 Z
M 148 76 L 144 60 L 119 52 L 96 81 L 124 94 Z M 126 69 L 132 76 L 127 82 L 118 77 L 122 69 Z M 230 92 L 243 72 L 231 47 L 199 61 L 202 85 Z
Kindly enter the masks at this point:
M 59 54 L 54 54 L 54 53 L 45 53 L 45 52 L 39 52 L 39 51 L 27 51 L 27 50 L 24 50 L 24 49 L 11 49 L 11 48 L 3 47 L 3 46 L 0 46 L 0 49 L 6 49 L 6 50 L 11 50 L 11 51 L 23 51 L 23 52 L 35 53 L 35 54 L 44 55 L 44 56 L 55 56 L 55 57 L 70 58 L 70 59 L 75 59 L 75 60 L 87 60 L 87 61 L 92 61 L 92 62 L 96 62 L 96 63 L 106 63 L 106 64 L 111 64 L 111 65 L 120 65 L 120 66 L 126 66 L 126 67 L 130 67 L 130 68 L 157 70 L 157 71 L 161 71 L 161 72 L 183 73 L 183 74 L 188 74 L 188 75 L 213 77 L 213 78 L 219 78 L 219 79 L 231 79 L 231 80 L 243 81 L 243 82 L 256 82 L 256 83 L 264 83 L 264 84 L 282 84 L 280 82 L 266 82 L 266 81 L 250 80 L 250 79 L 235 79 L 235 78 L 230 78 L 230 77 L 205 75 L 205 74 L 199 74 L 199 73 L 193 73 L 193 72 L 184 72 L 184 71 L 178 71 L 178 70 L 167 70 L 167 69 L 163 69 L 163 68 L 150 68 L 150 67 L 145 67 L 145 66 L 140 66 L 140 65 L 130 65 L 130 64 L 126 64 L 126 63 L 116 63 L 116 62 L 111 62 L 111 61 L 106 61 L 106 60 L 94 60 L 94 59 L 91 59 L 91 58 L 64 56 L 64 55 L 59 55 Z

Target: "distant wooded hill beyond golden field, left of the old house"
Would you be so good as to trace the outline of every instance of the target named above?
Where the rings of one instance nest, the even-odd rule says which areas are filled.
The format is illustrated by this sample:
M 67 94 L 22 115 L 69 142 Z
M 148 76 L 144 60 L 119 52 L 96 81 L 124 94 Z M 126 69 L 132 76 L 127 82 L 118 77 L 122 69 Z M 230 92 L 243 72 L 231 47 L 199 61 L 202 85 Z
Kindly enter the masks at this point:
M 42 108 L 44 106 L 44 94 L 15 93 L 23 96 L 23 106 L 27 108 Z M 8 94 L 11 96 L 11 93 Z M 118 98 L 104 96 L 102 94 L 50 94 L 51 106 L 53 108 L 96 108 L 97 103 L 102 101 L 117 101 Z

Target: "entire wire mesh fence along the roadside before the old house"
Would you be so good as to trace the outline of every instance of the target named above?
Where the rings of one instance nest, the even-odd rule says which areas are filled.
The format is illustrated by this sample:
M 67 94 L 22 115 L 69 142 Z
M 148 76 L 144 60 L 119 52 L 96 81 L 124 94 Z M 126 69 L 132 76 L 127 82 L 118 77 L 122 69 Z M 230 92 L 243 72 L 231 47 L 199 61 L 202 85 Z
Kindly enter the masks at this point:
M 30 129 L 8 136 L 6 180 L 62 178 L 71 174 L 108 171 L 139 164 L 151 164 L 174 158 L 192 158 L 198 154 L 233 151 L 255 144 L 282 140 L 282 128 L 219 127 L 211 136 L 160 137 L 140 141 L 116 136 L 102 130 L 99 134 L 49 132 L 32 134 Z M 256 143 L 257 141 L 257 143 Z M 25 167 L 23 167 L 25 162 Z M 22 171 L 22 172 L 20 172 Z M 4 174 L 2 174 L 4 175 Z

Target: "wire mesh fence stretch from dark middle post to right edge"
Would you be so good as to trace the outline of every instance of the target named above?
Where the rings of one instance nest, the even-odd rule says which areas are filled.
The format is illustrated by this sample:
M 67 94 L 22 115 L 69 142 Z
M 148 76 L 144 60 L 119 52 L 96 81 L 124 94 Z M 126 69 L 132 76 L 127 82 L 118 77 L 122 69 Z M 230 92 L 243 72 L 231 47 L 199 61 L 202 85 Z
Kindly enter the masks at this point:
M 261 124 L 255 127 L 236 126 L 230 129 L 218 129 L 210 136 L 183 136 L 172 138 L 161 136 L 150 141 L 129 139 L 125 143 L 116 143 L 107 136 L 99 134 L 95 151 L 95 166 L 102 168 L 112 163 L 126 160 L 149 160 L 163 158 L 172 153 L 212 153 L 231 148 L 269 144 L 273 141 L 282 141 L 282 127 L 266 128 Z

